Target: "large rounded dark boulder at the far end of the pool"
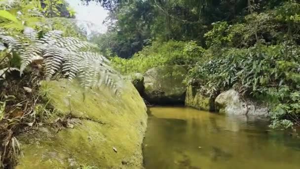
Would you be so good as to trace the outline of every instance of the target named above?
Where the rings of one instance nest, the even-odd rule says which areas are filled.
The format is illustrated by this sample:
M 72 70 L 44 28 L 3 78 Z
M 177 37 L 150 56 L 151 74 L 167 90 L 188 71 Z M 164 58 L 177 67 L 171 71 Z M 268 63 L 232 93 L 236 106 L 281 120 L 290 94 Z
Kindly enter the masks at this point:
M 144 74 L 144 98 L 154 104 L 183 104 L 187 70 L 183 66 L 160 66 Z

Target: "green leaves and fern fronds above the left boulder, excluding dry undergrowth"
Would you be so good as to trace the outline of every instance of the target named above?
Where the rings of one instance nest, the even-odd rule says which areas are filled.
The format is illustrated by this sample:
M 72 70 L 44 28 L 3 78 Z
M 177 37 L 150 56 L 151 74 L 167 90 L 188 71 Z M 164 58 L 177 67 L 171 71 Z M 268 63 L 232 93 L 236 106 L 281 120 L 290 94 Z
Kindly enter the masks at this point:
M 94 44 L 80 40 L 84 38 L 75 20 L 46 18 L 42 14 L 45 12 L 48 15 L 48 10 L 58 10 L 54 8 L 63 3 L 63 0 L 22 0 L 2 13 L 4 19 L 0 18 L 0 21 L 3 24 L 7 25 L 10 21 L 22 23 L 20 27 L 11 25 L 0 30 L 0 41 L 11 51 L 10 64 L 13 60 L 18 61 L 15 58 L 20 58 L 21 75 L 29 65 L 42 64 L 46 79 L 62 74 L 69 80 L 76 77 L 85 88 L 108 84 L 117 93 L 118 73 L 112 70 L 105 57 L 95 52 Z M 30 28 L 28 25 L 35 26 Z M 59 28 L 63 28 L 62 31 L 55 30 Z M 5 78 L 5 73 L 11 68 L 1 67 L 4 68 L 1 77 Z

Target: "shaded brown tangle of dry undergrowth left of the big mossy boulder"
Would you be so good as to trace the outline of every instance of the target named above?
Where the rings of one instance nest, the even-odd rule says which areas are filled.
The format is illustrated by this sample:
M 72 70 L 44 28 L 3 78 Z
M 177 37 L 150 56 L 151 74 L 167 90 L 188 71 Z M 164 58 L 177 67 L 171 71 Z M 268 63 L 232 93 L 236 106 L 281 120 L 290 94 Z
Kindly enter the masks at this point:
M 26 72 L 20 77 L 13 71 L 0 84 L 0 168 L 10 169 L 23 155 L 16 135 L 38 127 L 35 107 L 44 103 L 38 91 L 42 76 L 38 71 Z

